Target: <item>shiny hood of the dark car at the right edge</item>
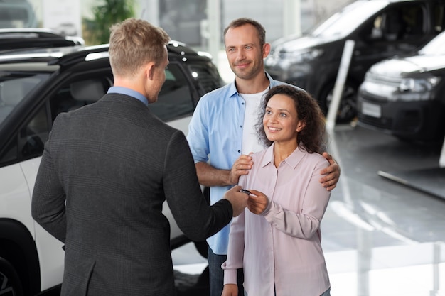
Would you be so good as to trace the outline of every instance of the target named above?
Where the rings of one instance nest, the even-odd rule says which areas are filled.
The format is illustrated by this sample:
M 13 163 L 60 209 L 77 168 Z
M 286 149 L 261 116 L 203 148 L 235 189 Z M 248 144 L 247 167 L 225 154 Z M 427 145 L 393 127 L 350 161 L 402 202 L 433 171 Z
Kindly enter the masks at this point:
M 404 77 L 438 70 L 445 70 L 445 55 L 413 55 L 383 60 L 373 65 L 370 72 L 386 77 Z

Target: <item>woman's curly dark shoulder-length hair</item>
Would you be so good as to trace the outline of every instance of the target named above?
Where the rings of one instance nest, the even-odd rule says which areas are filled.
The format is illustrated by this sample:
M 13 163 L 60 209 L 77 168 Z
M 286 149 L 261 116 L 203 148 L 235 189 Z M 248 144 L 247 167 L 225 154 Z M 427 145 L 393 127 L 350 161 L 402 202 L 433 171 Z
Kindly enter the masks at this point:
M 326 124 L 323 112 L 318 106 L 316 99 L 303 89 L 298 89 L 289 84 L 272 87 L 267 92 L 262 102 L 262 108 L 259 113 L 258 123 L 256 125 L 259 139 L 267 146 L 271 146 L 270 141 L 264 131 L 263 117 L 266 112 L 266 106 L 275 94 L 285 94 L 290 97 L 295 104 L 295 109 L 299 120 L 304 121 L 306 126 L 298 133 L 297 144 L 304 148 L 308 153 L 323 153 L 326 151 Z M 302 145 L 300 145 L 300 143 Z

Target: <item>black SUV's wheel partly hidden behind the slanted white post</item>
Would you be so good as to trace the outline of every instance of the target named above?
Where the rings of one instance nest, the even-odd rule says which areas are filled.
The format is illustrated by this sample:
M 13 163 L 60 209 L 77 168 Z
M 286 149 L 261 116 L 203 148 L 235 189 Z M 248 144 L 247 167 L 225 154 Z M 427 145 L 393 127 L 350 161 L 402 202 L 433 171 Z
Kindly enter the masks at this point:
M 333 99 L 333 89 L 335 84 L 331 82 L 321 91 L 320 106 L 323 113 L 327 116 L 329 106 Z M 338 106 L 336 121 L 338 123 L 347 123 L 352 121 L 357 115 L 357 89 L 358 87 L 350 81 L 345 83 L 340 105 Z

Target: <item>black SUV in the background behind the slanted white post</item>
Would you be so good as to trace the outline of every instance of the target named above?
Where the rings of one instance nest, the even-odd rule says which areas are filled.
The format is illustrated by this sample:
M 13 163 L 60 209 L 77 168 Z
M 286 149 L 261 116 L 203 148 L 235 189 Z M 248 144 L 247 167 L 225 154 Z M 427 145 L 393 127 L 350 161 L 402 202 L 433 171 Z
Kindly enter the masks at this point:
M 346 40 L 355 47 L 338 121 L 356 115 L 366 70 L 387 57 L 413 53 L 445 29 L 445 0 L 357 0 L 299 38 L 272 43 L 265 67 L 272 77 L 313 94 L 327 114 Z

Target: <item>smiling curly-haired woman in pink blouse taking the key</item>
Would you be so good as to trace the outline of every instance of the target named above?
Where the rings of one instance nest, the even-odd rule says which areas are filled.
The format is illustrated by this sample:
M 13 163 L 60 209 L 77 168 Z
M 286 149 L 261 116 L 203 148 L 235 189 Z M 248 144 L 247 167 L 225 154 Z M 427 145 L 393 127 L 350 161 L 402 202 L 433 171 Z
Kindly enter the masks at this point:
M 245 295 L 330 295 L 320 224 L 330 191 L 318 185 L 329 163 L 325 121 L 307 92 L 272 87 L 262 106 L 259 135 L 269 146 L 254 153 L 253 168 L 239 185 L 250 197 L 230 226 L 223 296 L 238 295 L 237 268 L 244 268 Z

